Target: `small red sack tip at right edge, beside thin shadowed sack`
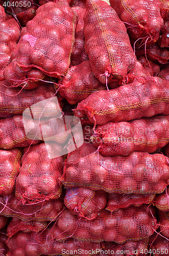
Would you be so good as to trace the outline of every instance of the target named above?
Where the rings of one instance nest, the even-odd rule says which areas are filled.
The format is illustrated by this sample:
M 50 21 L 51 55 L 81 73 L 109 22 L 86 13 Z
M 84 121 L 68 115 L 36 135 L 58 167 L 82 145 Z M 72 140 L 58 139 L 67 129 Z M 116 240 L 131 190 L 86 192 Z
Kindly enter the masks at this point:
M 169 211 L 169 187 L 167 186 L 162 194 L 156 195 L 155 200 L 153 201 L 159 210 Z

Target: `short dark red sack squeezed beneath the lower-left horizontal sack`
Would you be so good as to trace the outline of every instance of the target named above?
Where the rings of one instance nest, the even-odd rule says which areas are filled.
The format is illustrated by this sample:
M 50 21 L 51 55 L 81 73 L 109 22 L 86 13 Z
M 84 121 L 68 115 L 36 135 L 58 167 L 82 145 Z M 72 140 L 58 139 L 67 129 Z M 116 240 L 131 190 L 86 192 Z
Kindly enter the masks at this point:
M 22 221 L 16 217 L 13 217 L 7 227 L 8 237 L 14 236 L 19 231 L 25 233 L 43 231 L 47 227 L 47 222 L 39 221 Z

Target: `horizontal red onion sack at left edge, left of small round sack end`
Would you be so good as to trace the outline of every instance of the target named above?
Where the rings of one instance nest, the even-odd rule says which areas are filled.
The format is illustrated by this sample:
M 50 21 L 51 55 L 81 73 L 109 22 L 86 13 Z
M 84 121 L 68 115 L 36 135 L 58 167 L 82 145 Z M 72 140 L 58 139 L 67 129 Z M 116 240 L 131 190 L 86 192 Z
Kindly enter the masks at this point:
M 63 209 L 63 199 L 22 204 L 14 196 L 0 197 L 0 211 L 6 217 L 16 217 L 22 221 L 54 221 Z

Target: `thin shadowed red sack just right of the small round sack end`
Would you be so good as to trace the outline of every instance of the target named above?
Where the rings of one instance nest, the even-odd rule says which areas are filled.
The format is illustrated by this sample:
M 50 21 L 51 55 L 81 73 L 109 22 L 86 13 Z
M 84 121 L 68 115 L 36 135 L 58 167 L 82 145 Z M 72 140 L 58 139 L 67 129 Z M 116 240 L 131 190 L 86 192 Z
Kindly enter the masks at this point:
M 115 211 L 127 208 L 130 205 L 140 207 L 142 204 L 151 204 L 155 198 L 155 194 L 108 194 L 106 210 Z

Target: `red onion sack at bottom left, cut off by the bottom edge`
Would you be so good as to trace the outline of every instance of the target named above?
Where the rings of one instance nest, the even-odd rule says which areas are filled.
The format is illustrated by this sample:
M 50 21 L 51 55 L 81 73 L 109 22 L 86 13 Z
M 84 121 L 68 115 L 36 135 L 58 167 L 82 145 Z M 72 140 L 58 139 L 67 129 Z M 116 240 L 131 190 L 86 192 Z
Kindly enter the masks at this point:
M 46 229 L 42 234 L 32 232 L 30 234 L 19 232 L 17 236 L 9 238 L 7 246 L 10 249 L 8 256 L 21 254 L 22 256 L 32 255 L 75 255 L 89 256 L 96 254 L 96 249 L 101 249 L 104 243 L 93 243 L 90 241 L 77 241 L 67 239 L 65 242 L 54 241 L 52 229 Z M 89 253 L 85 253 L 85 250 Z

